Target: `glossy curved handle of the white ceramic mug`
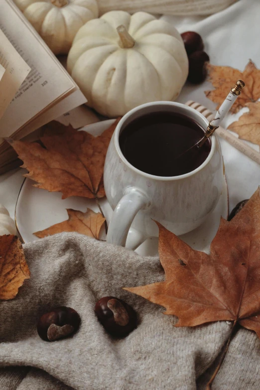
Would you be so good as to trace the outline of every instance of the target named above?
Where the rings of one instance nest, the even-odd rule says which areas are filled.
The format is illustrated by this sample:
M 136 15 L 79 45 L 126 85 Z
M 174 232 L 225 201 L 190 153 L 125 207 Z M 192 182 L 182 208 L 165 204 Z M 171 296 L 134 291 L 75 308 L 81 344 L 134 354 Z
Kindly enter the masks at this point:
M 107 242 L 125 247 L 134 217 L 139 210 L 149 206 L 148 197 L 142 191 L 133 187 L 128 188 L 112 215 L 108 228 Z M 139 240 L 135 240 L 134 247 L 137 248 L 145 238 L 145 236 L 140 236 Z

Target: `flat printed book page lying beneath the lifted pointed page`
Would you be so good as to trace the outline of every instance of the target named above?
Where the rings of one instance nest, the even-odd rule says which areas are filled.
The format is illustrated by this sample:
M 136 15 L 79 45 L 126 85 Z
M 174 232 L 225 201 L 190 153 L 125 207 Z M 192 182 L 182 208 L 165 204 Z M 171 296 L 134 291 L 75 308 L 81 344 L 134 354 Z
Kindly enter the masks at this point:
M 11 0 L 0 0 L 0 28 L 31 68 L 0 120 L 8 137 L 78 86 Z

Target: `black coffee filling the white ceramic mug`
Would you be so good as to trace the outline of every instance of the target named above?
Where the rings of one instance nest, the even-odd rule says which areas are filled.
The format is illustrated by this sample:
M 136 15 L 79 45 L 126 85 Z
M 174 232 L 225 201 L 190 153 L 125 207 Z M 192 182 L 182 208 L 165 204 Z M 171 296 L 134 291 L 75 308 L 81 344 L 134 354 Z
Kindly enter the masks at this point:
M 156 176 L 178 176 L 199 167 L 208 157 L 211 144 L 193 147 L 204 135 L 195 121 L 163 112 L 135 119 L 121 132 L 119 144 L 135 168 Z

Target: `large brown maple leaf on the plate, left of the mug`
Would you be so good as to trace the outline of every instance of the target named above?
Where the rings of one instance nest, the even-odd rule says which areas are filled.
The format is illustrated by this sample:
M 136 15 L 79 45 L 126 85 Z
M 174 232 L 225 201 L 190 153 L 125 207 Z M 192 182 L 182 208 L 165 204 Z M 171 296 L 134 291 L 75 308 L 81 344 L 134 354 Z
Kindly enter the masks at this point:
M 35 187 L 69 196 L 103 198 L 103 171 L 109 142 L 119 119 L 101 135 L 52 122 L 45 128 L 41 142 L 14 141 L 11 146 L 23 161 L 24 175 L 36 181 Z

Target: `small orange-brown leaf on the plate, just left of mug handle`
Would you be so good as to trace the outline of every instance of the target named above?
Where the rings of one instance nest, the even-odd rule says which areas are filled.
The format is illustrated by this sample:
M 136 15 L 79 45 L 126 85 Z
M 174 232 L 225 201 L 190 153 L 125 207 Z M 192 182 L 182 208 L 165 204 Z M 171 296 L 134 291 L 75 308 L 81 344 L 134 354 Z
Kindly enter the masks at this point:
M 105 222 L 105 218 L 100 213 L 95 213 L 89 209 L 86 213 L 73 209 L 67 209 L 67 212 L 69 216 L 67 221 L 60 222 L 33 234 L 39 238 L 43 238 L 56 233 L 78 232 L 85 234 L 85 236 L 99 238 L 100 229 Z

